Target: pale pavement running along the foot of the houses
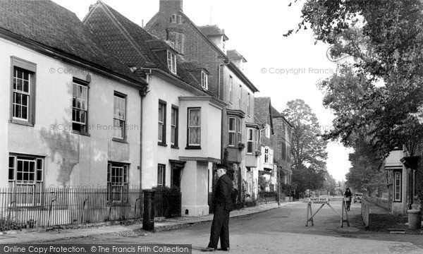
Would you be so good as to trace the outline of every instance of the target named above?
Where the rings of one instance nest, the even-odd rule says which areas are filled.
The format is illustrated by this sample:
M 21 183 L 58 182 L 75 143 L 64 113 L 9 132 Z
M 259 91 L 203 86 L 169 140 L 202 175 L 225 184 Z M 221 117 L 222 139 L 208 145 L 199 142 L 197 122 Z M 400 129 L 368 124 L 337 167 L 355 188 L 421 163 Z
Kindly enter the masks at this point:
M 303 201 L 298 201 L 303 202 Z M 234 210 L 231 212 L 230 217 L 246 217 L 251 214 L 257 214 L 260 212 L 266 212 L 273 209 L 278 209 L 284 205 L 288 205 L 292 202 L 282 202 L 278 205 L 277 202 L 263 203 L 255 207 L 245 207 L 240 210 Z M 160 219 L 154 222 L 154 231 L 166 231 L 172 229 L 180 229 L 186 226 L 195 224 L 202 224 L 211 222 L 213 220 L 213 214 L 208 214 L 201 217 L 177 217 L 172 219 Z M 0 244 L 13 244 L 13 243 L 42 243 L 51 241 L 60 241 L 69 238 L 84 238 L 98 234 L 118 234 L 118 235 L 129 235 L 135 234 L 140 235 L 142 230 L 142 219 L 135 220 L 133 224 L 84 224 L 77 228 L 37 228 L 37 229 L 22 229 L 22 230 L 11 230 L 0 232 Z M 144 234 L 148 234 L 145 231 Z

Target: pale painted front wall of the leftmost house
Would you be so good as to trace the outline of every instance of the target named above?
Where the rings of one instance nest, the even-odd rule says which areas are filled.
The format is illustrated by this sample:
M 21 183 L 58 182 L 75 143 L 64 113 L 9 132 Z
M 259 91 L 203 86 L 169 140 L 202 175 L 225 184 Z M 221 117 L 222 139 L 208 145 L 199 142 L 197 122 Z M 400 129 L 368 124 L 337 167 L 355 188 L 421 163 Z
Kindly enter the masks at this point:
M 9 152 L 46 157 L 44 183 L 54 186 L 106 186 L 107 162 L 111 157 L 130 164 L 130 185 L 139 186 L 140 176 L 140 95 L 138 90 L 116 80 L 87 71 L 87 68 L 63 63 L 6 40 L 0 40 L 0 82 L 6 92 L 0 95 L 0 164 L 6 165 Z M 11 56 L 37 64 L 35 126 L 8 123 L 11 94 Z M 73 75 L 66 72 L 73 72 Z M 72 119 L 73 77 L 91 76 L 89 90 L 90 136 L 69 131 Z M 113 114 L 114 90 L 127 97 L 128 144 L 125 155 L 114 157 Z M 5 135 L 7 132 L 7 135 Z M 6 136 L 6 138 L 5 138 Z M 5 140 L 6 142 L 3 142 Z M 120 160 L 125 158 L 123 160 Z M 6 180 L 4 180 L 6 179 Z M 6 187 L 7 178 L 0 181 Z

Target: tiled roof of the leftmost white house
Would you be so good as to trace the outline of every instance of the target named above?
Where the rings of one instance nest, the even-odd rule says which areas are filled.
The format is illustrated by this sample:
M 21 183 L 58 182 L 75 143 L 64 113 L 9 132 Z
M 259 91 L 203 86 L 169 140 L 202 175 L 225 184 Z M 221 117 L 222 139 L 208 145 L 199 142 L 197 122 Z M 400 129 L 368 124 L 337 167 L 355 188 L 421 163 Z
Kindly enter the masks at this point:
M 0 28 L 56 54 L 145 83 L 101 46 L 75 13 L 53 1 L 1 0 Z

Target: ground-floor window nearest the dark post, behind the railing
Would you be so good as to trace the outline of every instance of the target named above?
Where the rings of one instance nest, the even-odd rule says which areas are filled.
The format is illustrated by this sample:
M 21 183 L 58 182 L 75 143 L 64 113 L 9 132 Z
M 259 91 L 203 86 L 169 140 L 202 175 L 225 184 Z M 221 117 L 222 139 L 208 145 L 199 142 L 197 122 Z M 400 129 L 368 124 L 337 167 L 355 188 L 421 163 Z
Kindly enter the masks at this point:
M 129 165 L 107 163 L 107 202 L 128 202 Z

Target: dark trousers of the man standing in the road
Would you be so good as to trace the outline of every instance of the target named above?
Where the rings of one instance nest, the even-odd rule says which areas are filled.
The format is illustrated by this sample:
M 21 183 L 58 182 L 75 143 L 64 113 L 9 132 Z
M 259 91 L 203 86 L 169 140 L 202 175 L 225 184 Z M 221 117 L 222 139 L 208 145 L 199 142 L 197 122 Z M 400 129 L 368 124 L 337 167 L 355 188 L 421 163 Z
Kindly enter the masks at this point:
M 209 247 L 217 248 L 220 236 L 221 247 L 229 248 L 229 212 L 224 203 L 215 205 Z

